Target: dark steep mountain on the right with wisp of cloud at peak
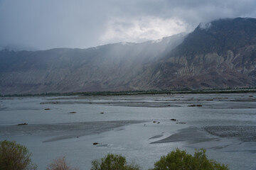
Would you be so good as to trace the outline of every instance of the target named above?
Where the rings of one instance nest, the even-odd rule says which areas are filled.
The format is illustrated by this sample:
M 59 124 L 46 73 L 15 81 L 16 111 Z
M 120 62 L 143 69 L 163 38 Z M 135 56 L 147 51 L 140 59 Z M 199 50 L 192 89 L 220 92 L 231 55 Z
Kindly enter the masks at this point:
M 142 89 L 256 86 L 256 19 L 199 25 L 156 64 L 132 81 Z M 144 79 L 150 77 L 150 79 Z

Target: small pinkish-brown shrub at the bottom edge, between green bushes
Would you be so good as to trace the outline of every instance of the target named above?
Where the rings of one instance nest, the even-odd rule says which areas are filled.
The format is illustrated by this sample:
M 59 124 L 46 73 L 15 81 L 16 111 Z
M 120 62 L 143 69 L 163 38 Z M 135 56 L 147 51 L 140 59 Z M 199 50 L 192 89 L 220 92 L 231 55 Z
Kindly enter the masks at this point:
M 65 160 L 65 157 L 54 159 L 53 163 L 47 166 L 47 170 L 73 170 Z M 77 170 L 77 169 L 74 169 Z

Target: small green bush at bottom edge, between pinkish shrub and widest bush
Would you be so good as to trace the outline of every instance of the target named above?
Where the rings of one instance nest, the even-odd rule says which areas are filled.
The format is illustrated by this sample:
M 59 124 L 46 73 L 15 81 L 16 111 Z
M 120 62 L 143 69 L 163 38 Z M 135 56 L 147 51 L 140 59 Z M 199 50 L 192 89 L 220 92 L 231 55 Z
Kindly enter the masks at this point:
M 136 164 L 127 164 L 125 157 L 118 154 L 107 154 L 102 159 L 92 161 L 91 170 L 139 170 Z

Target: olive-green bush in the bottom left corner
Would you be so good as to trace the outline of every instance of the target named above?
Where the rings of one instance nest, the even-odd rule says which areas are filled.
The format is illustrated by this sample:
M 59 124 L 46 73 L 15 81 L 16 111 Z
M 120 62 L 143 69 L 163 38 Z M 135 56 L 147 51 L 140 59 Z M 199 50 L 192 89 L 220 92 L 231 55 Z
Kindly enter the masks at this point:
M 0 170 L 30 170 L 37 169 L 31 162 L 31 153 L 15 141 L 0 142 Z

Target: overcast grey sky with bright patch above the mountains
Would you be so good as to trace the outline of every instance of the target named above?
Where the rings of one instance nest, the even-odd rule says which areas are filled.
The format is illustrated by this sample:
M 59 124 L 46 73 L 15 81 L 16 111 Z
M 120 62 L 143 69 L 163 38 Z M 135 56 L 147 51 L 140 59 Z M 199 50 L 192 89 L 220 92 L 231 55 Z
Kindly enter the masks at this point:
M 0 46 L 47 50 L 144 42 L 219 18 L 256 18 L 255 0 L 0 0 Z

